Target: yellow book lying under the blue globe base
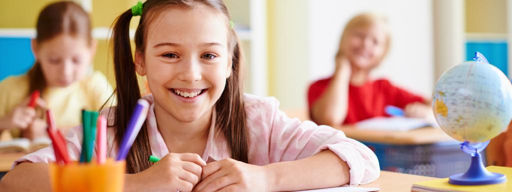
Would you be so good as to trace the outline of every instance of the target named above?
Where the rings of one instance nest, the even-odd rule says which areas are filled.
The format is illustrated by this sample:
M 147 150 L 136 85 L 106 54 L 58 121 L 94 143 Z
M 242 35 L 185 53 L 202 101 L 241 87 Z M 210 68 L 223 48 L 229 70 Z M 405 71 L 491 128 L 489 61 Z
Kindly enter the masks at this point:
M 507 181 L 492 185 L 453 185 L 448 183 L 448 178 L 420 181 L 413 183 L 411 188 L 415 192 L 510 192 L 512 191 L 512 168 L 502 166 L 488 166 L 490 172 L 506 175 Z

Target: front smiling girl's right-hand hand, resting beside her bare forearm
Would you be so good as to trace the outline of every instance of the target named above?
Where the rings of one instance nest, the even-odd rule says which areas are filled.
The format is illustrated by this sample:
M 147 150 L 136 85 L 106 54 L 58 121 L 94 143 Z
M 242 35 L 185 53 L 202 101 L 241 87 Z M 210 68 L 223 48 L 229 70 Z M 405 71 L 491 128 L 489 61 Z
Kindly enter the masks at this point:
M 203 167 L 203 180 L 194 191 L 271 191 L 271 176 L 271 171 L 265 166 L 224 159 Z

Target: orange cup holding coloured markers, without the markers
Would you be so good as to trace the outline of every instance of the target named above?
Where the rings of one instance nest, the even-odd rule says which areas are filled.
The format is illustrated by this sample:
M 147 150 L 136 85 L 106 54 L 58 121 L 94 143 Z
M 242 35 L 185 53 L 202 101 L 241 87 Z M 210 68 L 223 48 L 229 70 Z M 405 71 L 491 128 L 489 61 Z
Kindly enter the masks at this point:
M 55 192 L 121 192 L 124 187 L 124 161 L 50 163 L 50 182 Z

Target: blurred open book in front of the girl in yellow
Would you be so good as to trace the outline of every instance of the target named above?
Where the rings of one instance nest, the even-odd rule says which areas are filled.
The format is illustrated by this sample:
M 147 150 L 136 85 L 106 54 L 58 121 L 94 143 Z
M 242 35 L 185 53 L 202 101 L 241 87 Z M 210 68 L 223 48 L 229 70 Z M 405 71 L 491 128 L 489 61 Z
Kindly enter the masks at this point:
M 48 147 L 51 142 L 47 137 L 39 137 L 32 141 L 28 138 L 14 138 L 10 141 L 0 142 L 0 154 L 32 153 Z

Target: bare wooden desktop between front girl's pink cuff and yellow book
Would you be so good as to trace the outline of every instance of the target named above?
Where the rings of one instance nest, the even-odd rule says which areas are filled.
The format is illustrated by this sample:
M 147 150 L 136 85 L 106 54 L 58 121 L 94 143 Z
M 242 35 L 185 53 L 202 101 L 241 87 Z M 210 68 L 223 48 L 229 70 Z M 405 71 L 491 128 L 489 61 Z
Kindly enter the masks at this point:
M 409 175 L 389 171 L 380 171 L 380 177 L 372 183 L 360 185 L 361 187 L 378 187 L 382 192 L 409 192 L 414 182 L 438 179 Z

